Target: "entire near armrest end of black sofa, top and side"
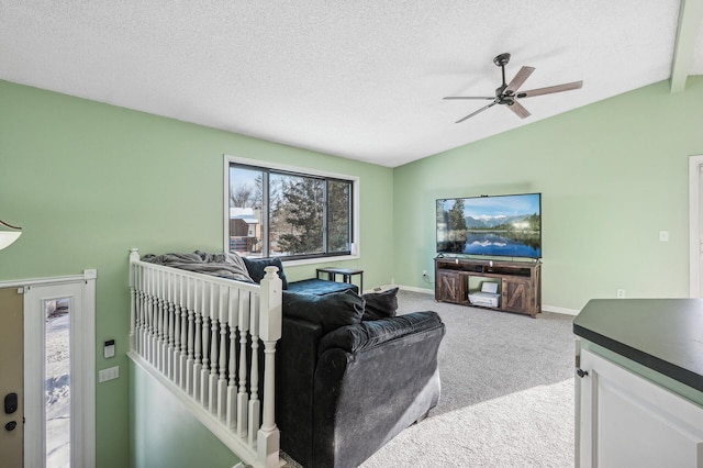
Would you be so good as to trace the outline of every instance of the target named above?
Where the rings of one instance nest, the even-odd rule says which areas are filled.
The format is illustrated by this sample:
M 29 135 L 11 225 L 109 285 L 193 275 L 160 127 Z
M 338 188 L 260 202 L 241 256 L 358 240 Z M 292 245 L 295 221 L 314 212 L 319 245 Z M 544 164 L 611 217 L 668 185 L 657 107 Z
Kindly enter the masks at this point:
M 349 330 L 346 335 L 341 332 L 345 328 Z M 311 468 L 359 466 L 403 428 L 423 419 L 440 394 L 437 356 L 445 325 L 435 312 L 345 326 L 323 341 L 327 336 L 332 339 L 334 333 L 344 335 L 344 346 L 356 352 L 344 350 L 341 343 L 332 341 L 320 354 L 313 459 L 305 464 Z

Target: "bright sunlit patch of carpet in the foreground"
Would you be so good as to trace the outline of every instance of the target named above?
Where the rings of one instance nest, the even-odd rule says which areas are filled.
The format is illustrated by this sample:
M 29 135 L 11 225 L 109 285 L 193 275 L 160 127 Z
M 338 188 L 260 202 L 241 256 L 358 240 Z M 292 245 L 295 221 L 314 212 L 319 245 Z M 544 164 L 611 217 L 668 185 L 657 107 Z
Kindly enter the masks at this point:
M 572 393 L 565 380 L 429 417 L 362 467 L 572 467 Z

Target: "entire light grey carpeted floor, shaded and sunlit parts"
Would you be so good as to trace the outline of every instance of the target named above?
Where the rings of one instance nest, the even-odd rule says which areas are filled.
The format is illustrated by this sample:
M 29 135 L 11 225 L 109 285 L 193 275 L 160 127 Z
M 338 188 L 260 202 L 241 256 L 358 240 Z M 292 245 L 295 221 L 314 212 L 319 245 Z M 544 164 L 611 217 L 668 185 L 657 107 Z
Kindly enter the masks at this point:
M 399 313 L 422 310 L 437 311 L 447 326 L 442 399 L 361 466 L 572 467 L 573 317 L 531 319 L 400 291 Z

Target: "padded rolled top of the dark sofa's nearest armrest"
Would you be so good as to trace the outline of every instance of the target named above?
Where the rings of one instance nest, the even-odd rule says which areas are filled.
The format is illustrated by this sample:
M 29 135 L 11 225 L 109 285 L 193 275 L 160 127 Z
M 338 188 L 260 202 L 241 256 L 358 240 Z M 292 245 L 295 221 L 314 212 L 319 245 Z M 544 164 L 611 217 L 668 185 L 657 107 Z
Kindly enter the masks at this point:
M 356 353 L 409 334 L 442 326 L 442 319 L 433 311 L 364 321 L 355 325 L 342 326 L 327 333 L 320 342 L 317 355 L 322 355 L 331 348 Z

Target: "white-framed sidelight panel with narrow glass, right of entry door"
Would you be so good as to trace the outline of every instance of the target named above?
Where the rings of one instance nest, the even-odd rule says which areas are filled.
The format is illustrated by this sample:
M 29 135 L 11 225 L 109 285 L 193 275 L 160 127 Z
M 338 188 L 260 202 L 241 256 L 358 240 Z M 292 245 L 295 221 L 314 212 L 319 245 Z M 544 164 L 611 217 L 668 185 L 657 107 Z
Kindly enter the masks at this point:
M 24 289 L 24 466 L 94 466 L 94 281 Z

